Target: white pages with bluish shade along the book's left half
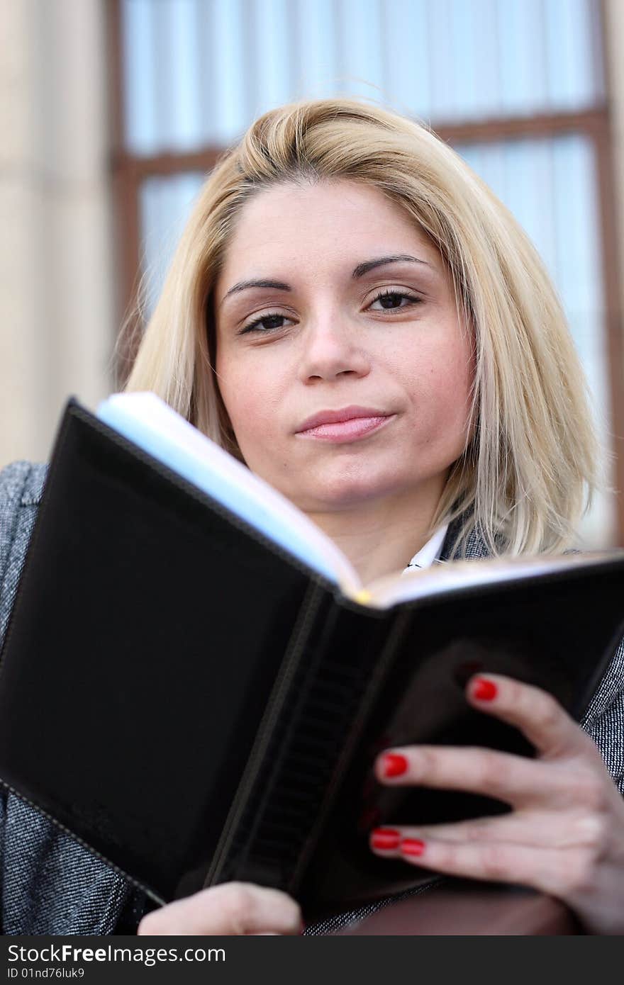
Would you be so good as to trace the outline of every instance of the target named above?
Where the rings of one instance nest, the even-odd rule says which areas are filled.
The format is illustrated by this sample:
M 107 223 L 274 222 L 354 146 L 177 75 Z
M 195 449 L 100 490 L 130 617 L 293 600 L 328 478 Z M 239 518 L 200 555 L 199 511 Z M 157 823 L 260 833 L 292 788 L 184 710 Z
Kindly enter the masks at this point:
M 355 597 L 362 583 L 348 558 L 305 513 L 190 425 L 154 393 L 116 393 L 97 417 L 266 537 Z

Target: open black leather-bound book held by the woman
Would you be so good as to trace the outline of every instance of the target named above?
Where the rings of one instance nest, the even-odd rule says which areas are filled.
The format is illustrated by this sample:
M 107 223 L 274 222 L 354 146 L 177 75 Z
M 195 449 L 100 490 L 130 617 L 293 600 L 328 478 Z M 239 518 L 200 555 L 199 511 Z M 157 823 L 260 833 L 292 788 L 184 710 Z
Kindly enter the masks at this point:
M 478 671 L 577 718 L 624 632 L 624 552 L 362 585 L 280 493 L 151 394 L 70 400 L 0 656 L 0 779 L 155 900 L 278 886 L 307 919 L 429 874 L 372 826 L 504 810 L 384 788 L 382 749 L 530 755 Z

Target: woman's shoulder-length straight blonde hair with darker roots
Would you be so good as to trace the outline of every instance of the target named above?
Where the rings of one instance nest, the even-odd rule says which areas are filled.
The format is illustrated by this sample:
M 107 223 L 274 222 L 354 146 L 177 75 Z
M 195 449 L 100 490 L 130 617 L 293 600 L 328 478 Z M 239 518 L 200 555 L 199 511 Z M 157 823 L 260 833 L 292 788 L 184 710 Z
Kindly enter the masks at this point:
M 599 484 L 588 386 L 559 299 L 519 224 L 467 164 L 423 125 L 376 105 L 291 103 L 259 117 L 225 153 L 181 236 L 125 389 L 153 390 L 243 460 L 212 364 L 213 285 L 250 196 L 332 179 L 381 190 L 425 232 L 473 335 L 473 433 L 430 533 L 457 521 L 459 555 L 475 531 L 494 555 L 565 550 Z

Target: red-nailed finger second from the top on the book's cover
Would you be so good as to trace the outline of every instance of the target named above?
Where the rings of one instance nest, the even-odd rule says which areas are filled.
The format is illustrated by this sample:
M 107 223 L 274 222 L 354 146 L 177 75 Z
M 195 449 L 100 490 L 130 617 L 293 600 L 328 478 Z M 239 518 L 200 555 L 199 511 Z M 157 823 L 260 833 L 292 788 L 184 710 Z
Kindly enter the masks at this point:
M 570 799 L 570 778 L 551 764 L 465 746 L 404 746 L 378 756 L 375 774 L 391 786 L 463 790 L 515 807 Z M 574 792 L 574 791 L 573 791 Z

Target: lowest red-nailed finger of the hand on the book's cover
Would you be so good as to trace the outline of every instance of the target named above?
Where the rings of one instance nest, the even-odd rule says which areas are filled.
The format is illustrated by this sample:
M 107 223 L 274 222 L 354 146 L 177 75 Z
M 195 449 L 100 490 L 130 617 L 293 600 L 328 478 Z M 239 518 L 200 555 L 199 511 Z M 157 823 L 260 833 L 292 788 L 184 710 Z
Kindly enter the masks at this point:
M 397 854 L 410 865 L 447 876 L 532 886 L 553 895 L 561 894 L 568 878 L 568 853 L 551 848 L 497 841 L 465 844 L 406 838 Z

